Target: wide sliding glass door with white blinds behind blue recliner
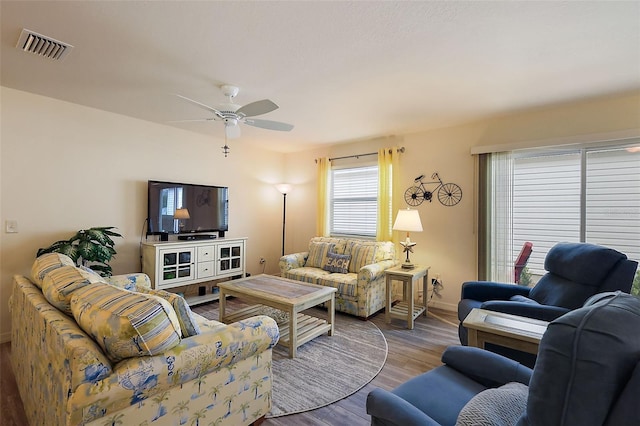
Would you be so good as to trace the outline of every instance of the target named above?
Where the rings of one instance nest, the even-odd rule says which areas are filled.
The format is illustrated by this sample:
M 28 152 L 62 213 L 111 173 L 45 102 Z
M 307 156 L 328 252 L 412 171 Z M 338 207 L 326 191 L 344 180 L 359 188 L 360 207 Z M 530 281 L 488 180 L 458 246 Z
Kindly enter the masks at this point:
M 527 268 L 534 276 L 545 273 L 545 255 L 561 241 L 600 244 L 640 259 L 637 148 L 522 150 L 491 154 L 488 163 L 483 278 L 511 281 L 525 241 L 533 243 Z

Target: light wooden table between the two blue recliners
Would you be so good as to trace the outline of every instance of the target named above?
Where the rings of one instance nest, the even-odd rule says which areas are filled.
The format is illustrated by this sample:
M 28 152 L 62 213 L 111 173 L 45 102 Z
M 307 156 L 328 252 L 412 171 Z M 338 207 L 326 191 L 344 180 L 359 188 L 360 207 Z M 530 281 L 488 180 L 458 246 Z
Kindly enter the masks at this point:
M 484 349 L 485 343 L 493 343 L 535 355 L 549 323 L 476 308 L 462 325 L 469 331 L 469 346 Z

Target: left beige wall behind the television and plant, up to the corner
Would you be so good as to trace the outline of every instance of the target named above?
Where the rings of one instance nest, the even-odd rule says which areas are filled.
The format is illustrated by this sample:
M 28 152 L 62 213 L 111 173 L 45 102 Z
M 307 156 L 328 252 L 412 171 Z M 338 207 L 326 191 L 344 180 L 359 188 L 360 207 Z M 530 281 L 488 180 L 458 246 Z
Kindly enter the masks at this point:
M 2 87 L 0 340 L 9 339 L 14 274 L 29 274 L 36 250 L 78 229 L 115 226 L 115 273 L 140 270 L 147 180 L 229 186 L 227 236 L 246 236 L 247 269 L 278 271 L 282 154 Z M 215 135 L 212 130 L 212 134 Z M 6 220 L 19 233 L 7 234 Z

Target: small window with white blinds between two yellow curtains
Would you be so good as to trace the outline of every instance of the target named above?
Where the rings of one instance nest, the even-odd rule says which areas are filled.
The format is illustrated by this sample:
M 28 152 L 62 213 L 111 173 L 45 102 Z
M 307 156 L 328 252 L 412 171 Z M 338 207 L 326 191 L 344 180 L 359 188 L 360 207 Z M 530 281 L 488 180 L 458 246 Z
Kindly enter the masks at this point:
M 333 168 L 329 209 L 332 236 L 375 238 L 378 166 Z

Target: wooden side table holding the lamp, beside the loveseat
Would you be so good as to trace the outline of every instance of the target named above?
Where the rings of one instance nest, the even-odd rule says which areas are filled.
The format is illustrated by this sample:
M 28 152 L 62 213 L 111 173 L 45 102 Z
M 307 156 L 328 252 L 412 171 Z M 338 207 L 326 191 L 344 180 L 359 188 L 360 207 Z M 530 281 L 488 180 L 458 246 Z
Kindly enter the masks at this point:
M 427 286 L 429 267 L 416 265 L 413 269 L 403 269 L 401 266 L 389 268 L 385 273 L 386 297 L 385 297 L 385 321 L 391 322 L 391 318 L 399 318 L 407 321 L 407 328 L 413 330 L 413 322 L 420 314 L 427 316 Z M 422 278 L 422 305 L 416 306 L 413 298 L 414 284 Z M 392 282 L 402 282 L 402 301 L 391 306 Z

